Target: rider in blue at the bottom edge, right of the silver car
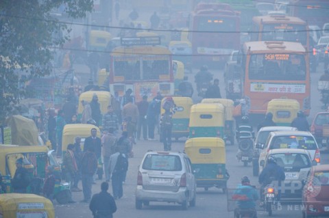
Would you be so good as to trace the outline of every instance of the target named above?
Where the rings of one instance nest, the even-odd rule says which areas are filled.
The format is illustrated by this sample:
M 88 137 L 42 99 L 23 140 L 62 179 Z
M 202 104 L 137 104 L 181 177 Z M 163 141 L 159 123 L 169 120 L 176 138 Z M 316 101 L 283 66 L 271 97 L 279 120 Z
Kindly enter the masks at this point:
M 236 187 L 232 199 L 236 200 L 236 206 L 238 210 L 254 210 L 256 214 L 256 200 L 258 200 L 258 194 L 254 187 L 250 185 L 250 180 L 247 176 L 241 178 L 241 185 Z

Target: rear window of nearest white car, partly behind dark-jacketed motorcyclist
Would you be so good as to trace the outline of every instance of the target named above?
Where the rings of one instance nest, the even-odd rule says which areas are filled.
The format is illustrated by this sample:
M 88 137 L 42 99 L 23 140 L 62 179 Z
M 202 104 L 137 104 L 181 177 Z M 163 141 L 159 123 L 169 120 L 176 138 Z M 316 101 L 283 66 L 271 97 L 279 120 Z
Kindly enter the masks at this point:
M 310 158 L 306 154 L 280 153 L 272 154 L 276 163 L 284 168 L 284 171 L 295 171 L 310 167 Z

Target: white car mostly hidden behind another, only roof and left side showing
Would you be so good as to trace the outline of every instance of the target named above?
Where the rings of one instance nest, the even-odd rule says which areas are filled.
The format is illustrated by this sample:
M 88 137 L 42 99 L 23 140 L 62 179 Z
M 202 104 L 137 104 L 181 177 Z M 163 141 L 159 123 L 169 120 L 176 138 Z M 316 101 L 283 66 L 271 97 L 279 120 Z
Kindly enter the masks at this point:
M 273 131 L 297 131 L 297 128 L 291 126 L 265 126 L 260 128 L 254 142 L 254 158 L 252 159 L 252 172 L 254 176 L 258 176 L 259 172 L 259 154 L 262 151 L 260 148 L 264 146 L 269 133 Z

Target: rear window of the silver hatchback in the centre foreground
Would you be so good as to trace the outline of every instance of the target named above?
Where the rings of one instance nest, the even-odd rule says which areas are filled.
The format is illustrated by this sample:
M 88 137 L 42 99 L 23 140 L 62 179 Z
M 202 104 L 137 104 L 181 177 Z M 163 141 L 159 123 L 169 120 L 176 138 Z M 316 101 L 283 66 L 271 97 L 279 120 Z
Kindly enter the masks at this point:
M 181 171 L 182 163 L 178 155 L 147 154 L 143 169 L 162 171 Z

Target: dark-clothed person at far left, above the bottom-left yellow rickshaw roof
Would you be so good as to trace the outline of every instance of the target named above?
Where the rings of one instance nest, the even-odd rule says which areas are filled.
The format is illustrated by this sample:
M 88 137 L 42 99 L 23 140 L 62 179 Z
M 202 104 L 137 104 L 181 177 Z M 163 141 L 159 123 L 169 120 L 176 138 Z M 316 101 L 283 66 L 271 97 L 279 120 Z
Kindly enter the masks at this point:
M 16 172 L 14 178 L 12 178 L 12 189 L 14 193 L 26 193 L 26 189 L 29 186 L 31 179 L 27 169 L 23 167 L 23 158 L 16 160 Z

